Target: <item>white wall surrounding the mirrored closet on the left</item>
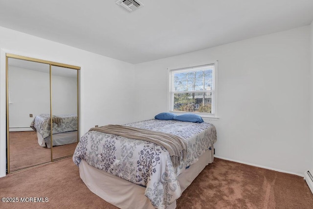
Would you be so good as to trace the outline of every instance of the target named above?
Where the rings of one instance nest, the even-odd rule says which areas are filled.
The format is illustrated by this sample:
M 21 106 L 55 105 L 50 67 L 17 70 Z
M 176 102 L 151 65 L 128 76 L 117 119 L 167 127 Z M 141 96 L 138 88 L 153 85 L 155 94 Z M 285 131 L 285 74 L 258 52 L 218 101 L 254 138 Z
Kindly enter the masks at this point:
M 134 121 L 134 65 L 0 27 L 0 177 L 5 175 L 5 53 L 80 66 L 80 134 Z

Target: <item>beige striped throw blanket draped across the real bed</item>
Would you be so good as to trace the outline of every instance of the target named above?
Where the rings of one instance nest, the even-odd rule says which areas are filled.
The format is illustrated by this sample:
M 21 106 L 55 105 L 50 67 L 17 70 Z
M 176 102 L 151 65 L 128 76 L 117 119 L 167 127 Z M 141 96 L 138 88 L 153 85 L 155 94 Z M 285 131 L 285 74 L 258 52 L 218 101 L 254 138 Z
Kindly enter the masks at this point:
M 171 160 L 175 167 L 179 165 L 181 157 L 183 159 L 186 157 L 187 142 L 173 134 L 122 125 L 106 125 L 91 128 L 89 131 L 99 131 L 129 139 L 139 139 L 156 143 L 157 145 L 165 147 L 170 153 Z

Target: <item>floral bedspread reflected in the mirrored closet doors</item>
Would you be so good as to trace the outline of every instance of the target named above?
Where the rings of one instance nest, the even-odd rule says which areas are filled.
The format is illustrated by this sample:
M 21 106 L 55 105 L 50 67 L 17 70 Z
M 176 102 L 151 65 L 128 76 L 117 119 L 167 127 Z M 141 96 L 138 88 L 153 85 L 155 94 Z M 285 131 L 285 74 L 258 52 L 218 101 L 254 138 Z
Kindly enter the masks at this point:
M 58 115 L 61 117 L 61 123 L 52 124 L 52 134 L 58 134 L 68 131 L 77 131 L 77 114 Z M 41 134 L 45 139 L 50 136 L 50 114 L 41 114 L 36 116 L 30 124 L 30 127 Z

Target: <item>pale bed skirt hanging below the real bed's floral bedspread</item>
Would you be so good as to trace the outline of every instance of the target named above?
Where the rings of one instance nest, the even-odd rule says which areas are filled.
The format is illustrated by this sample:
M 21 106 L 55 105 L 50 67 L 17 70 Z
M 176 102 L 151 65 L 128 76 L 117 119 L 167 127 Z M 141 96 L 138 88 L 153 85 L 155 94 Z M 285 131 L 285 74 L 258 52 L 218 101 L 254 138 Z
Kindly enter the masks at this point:
M 200 174 L 204 167 L 213 163 L 214 147 L 207 150 L 197 163 L 190 165 L 182 172 L 178 179 L 181 192 L 183 192 L 192 181 Z M 86 186 L 112 205 L 121 209 L 155 209 L 150 200 L 144 195 L 145 187 L 133 184 L 105 171 L 90 166 L 84 160 L 79 164 L 79 174 Z M 181 194 L 180 194 L 181 195 Z M 176 201 L 167 207 L 175 209 Z

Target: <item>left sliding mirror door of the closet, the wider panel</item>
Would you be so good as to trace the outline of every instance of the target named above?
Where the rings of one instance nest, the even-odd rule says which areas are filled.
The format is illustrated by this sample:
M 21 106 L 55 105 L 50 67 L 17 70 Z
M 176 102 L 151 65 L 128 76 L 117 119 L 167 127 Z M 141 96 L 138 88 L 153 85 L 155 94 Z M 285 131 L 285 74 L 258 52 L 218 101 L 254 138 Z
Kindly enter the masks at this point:
M 45 147 L 50 117 L 50 67 L 48 64 L 7 58 L 8 166 L 10 172 L 50 162 Z M 43 131 L 43 126 L 48 130 Z M 35 130 L 38 129 L 36 132 Z M 43 137 L 44 136 L 44 137 Z

